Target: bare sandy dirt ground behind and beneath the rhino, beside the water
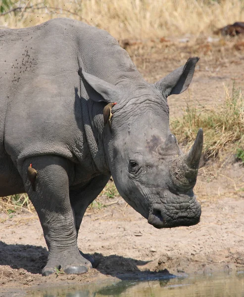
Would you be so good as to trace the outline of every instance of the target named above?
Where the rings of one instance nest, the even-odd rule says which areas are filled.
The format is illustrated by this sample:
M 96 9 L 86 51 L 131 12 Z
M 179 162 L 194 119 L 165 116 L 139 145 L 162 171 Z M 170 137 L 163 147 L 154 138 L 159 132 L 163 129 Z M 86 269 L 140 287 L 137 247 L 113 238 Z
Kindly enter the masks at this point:
M 187 100 L 218 108 L 225 99 L 223 83 L 232 87 L 235 80 L 243 88 L 241 39 L 150 43 L 127 48 L 149 82 L 189 56 L 200 57 L 189 91 L 169 98 L 171 116 L 182 114 Z M 79 248 L 96 262 L 84 275 L 42 277 L 48 252 L 37 215 L 0 214 L 0 297 L 20 296 L 14 295 L 15 289 L 35 286 L 244 270 L 244 166 L 231 153 L 220 154 L 200 168 L 195 193 L 202 206 L 201 222 L 162 230 L 149 225 L 122 198 L 98 198 L 101 208 L 85 214 L 78 237 Z

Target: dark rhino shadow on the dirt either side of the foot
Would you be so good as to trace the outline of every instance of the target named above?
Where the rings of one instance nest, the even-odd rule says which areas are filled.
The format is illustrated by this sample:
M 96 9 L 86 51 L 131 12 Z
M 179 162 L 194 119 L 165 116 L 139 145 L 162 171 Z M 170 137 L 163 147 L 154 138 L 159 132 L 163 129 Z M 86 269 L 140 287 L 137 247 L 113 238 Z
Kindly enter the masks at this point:
M 121 280 L 148 280 L 173 277 L 168 271 L 141 271 L 138 266 L 144 266 L 149 261 L 141 261 L 118 255 L 104 256 L 94 253 L 95 269 L 104 275 L 116 276 Z M 33 245 L 8 245 L 0 241 L 0 265 L 8 265 L 13 269 L 23 268 L 33 273 L 41 274 L 48 259 L 46 247 Z

